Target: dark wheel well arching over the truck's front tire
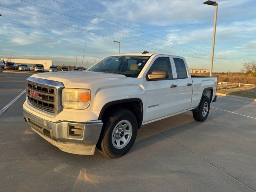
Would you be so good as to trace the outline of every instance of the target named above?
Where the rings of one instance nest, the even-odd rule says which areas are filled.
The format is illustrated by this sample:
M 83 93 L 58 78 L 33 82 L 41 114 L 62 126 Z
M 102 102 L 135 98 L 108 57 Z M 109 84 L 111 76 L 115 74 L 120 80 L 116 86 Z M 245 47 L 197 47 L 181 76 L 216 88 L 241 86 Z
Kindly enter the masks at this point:
M 127 99 L 127 100 L 119 100 L 109 102 L 100 111 L 100 115 L 98 120 L 101 120 L 106 114 L 108 114 L 111 110 L 116 108 L 124 108 L 130 110 L 136 117 L 138 122 L 138 128 L 142 125 L 143 120 L 143 104 L 140 99 Z

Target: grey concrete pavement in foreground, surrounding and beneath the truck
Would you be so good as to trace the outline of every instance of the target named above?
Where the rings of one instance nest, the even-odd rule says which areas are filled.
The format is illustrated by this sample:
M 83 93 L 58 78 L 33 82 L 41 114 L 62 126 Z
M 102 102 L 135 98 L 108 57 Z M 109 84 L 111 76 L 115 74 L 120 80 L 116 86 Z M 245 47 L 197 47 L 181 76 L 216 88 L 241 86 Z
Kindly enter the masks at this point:
M 147 124 L 128 154 L 109 159 L 52 146 L 24 122 L 24 100 L 0 117 L 1 191 L 256 190 L 256 102 L 218 97 L 205 122 L 186 112 Z

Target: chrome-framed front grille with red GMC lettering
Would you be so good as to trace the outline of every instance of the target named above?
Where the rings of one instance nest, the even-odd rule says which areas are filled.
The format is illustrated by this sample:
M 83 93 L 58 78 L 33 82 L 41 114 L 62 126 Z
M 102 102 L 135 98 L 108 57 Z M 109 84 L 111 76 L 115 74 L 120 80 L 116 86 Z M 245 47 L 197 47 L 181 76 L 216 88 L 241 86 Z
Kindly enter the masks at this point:
M 32 78 L 30 77 L 30 79 Z M 37 78 L 33 78 L 33 80 L 35 79 Z M 60 82 L 42 79 L 37 80 L 38 82 L 32 82 L 29 80 L 27 81 L 26 95 L 28 98 L 28 102 L 41 110 L 57 114 L 58 112 L 60 112 L 60 110 L 62 110 L 62 107 L 60 105 L 60 96 L 61 89 L 64 86 L 59 86 L 60 84 L 62 84 Z M 41 84 L 40 82 L 47 82 L 48 84 Z

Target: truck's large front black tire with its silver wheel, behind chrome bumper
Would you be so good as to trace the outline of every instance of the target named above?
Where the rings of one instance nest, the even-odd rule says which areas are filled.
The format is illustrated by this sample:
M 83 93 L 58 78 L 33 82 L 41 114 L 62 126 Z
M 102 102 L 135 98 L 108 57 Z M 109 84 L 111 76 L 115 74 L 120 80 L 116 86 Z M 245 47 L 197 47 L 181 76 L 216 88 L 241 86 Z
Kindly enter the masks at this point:
M 100 150 L 102 154 L 104 154 L 109 158 L 118 158 L 125 155 L 132 148 L 138 132 L 138 123 L 134 114 L 130 110 L 118 108 L 116 110 L 111 111 L 107 116 L 102 118 L 102 122 L 103 122 L 102 132 L 100 134 L 100 139 L 98 141 L 98 144 L 96 145 L 98 150 Z M 125 122 L 127 122 L 127 124 L 129 124 L 130 122 L 129 126 L 127 126 L 124 129 L 125 131 L 127 130 L 131 131 L 131 134 L 129 135 L 125 132 L 120 132 L 120 138 L 124 138 L 127 142 L 124 143 L 120 141 L 119 146 L 123 144 L 123 148 L 118 149 L 116 148 L 118 146 L 116 142 L 120 140 L 120 138 L 116 138 L 116 134 L 119 134 L 117 133 L 119 130 L 118 125 L 122 124 L 126 126 Z M 131 126 L 131 129 L 130 129 L 130 126 Z M 127 139 L 126 139 L 126 136 L 127 136 Z M 113 137 L 113 140 L 115 140 L 113 142 L 116 145 L 116 147 L 112 142 L 112 137 Z

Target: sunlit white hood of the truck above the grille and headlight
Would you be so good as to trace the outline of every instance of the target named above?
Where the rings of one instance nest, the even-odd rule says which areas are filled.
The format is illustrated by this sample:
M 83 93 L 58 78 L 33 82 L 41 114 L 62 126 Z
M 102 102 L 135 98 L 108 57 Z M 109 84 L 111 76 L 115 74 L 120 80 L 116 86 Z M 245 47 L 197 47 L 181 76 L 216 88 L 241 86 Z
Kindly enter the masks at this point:
M 66 71 L 66 72 L 46 72 L 34 74 L 32 77 L 48 79 L 62 82 L 66 88 L 80 88 L 90 82 L 100 82 L 106 80 L 128 78 L 120 74 L 92 72 L 92 71 Z

